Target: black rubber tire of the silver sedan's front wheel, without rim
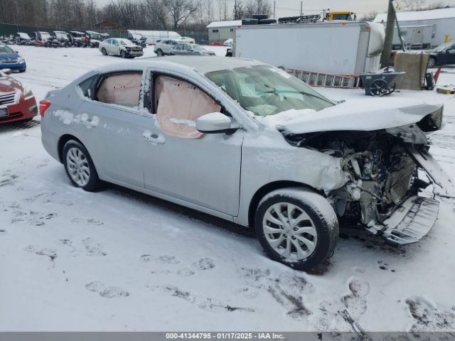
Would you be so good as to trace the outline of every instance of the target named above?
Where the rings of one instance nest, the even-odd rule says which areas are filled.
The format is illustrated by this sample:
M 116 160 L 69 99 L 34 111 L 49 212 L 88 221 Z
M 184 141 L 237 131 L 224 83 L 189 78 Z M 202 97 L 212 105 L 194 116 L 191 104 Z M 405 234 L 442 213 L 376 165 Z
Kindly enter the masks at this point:
M 310 220 L 302 220 L 296 224 L 296 227 L 294 228 L 291 228 L 293 225 L 289 224 L 287 227 L 289 230 L 287 232 L 278 233 L 279 236 L 277 236 L 277 233 L 274 233 L 274 237 L 277 237 L 277 240 L 282 238 L 282 236 L 287 237 L 288 240 L 283 239 L 282 243 L 286 245 L 291 244 L 290 249 L 297 251 L 295 243 L 298 243 L 300 247 L 304 248 L 306 248 L 306 244 L 299 243 L 299 240 L 296 238 L 305 235 L 305 239 L 307 241 L 308 238 L 313 238 L 314 241 L 315 237 L 312 237 L 311 234 L 306 234 L 305 232 L 297 234 L 294 231 L 296 231 L 296 229 L 301 229 L 302 227 L 311 226 L 310 228 L 316 232 L 316 244 L 314 245 L 313 251 L 306 249 L 309 254 L 306 255 L 304 259 L 296 259 L 296 257 L 292 258 L 291 256 L 287 258 L 282 256 L 282 254 L 279 254 L 279 252 L 276 251 L 267 240 L 266 233 L 264 232 L 264 216 L 266 215 L 267 210 L 270 210 L 273 205 L 279 203 L 289 203 L 294 205 L 296 209 L 291 211 L 291 214 L 299 212 L 300 210 L 301 212 L 306 213 L 306 215 L 310 218 Z M 284 215 L 284 212 L 282 212 L 282 214 Z M 308 225 L 308 222 L 310 222 L 310 225 Z M 299 224 L 302 225 L 298 226 Z M 267 222 L 267 227 L 273 226 Z M 255 213 L 255 229 L 257 239 L 259 239 L 259 242 L 269 258 L 282 264 L 286 264 L 293 269 L 303 271 L 308 271 L 315 266 L 318 266 L 332 256 L 339 234 L 338 219 L 336 218 L 336 214 L 331 204 L 322 195 L 305 188 L 284 188 L 282 190 L 274 190 L 266 195 L 261 202 L 259 202 Z M 287 236 L 287 234 L 289 235 Z M 272 236 L 272 234 L 269 233 L 269 236 Z M 294 242 L 291 242 L 291 240 L 289 240 L 290 238 L 294 239 Z

